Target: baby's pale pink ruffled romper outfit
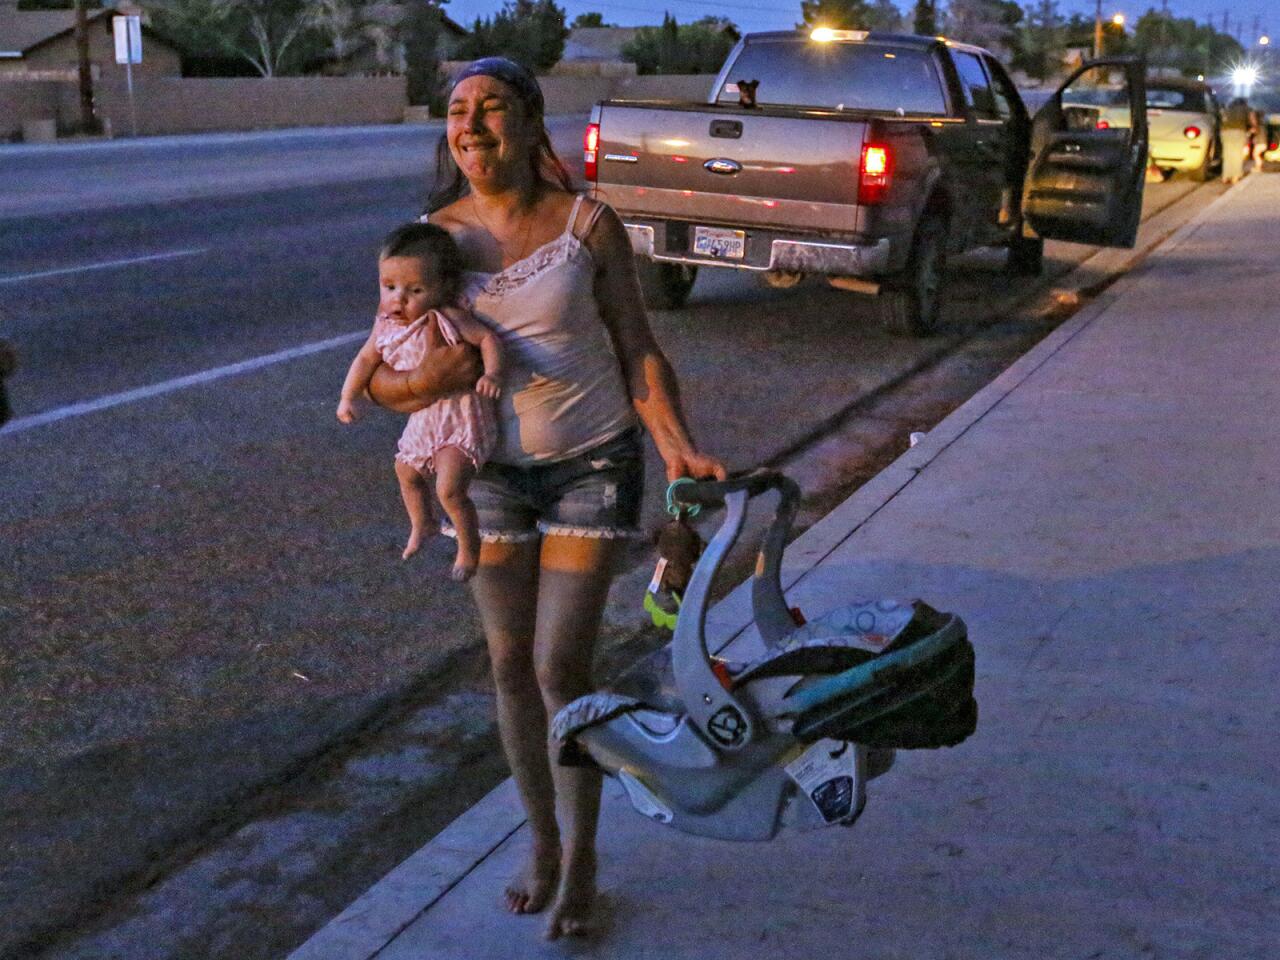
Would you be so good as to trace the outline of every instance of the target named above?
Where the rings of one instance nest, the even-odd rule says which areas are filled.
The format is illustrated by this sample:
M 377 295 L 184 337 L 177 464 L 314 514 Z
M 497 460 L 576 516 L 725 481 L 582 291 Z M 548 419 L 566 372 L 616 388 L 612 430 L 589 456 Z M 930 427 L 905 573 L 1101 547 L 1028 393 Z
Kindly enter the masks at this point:
M 440 333 L 451 344 L 460 340 L 453 324 L 435 310 L 426 311 L 403 326 L 385 314 L 379 314 L 374 321 L 374 344 L 383 355 L 383 362 L 394 370 L 412 370 L 421 364 L 428 351 L 428 325 L 431 323 L 440 325 Z M 434 474 L 435 452 L 440 447 L 457 447 L 479 467 L 489 458 L 497 439 L 498 421 L 493 401 L 475 390 L 460 393 L 410 415 L 396 460 L 408 463 L 419 472 Z

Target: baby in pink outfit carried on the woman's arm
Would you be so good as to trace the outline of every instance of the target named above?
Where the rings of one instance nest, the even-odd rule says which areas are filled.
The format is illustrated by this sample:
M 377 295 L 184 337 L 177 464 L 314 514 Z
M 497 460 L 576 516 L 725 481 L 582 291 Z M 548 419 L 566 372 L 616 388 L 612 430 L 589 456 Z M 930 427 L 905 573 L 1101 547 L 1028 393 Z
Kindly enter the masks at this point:
M 342 384 L 338 420 L 356 420 L 356 404 L 379 364 L 412 370 L 422 361 L 430 324 L 436 324 L 451 344 L 461 339 L 480 348 L 484 376 L 476 381 L 475 393 L 445 397 L 411 415 L 396 453 L 396 477 L 411 524 L 403 558 L 417 553 L 431 521 L 424 474 L 435 474 L 435 494 L 458 536 L 452 576 L 468 580 L 480 554 L 480 530 L 467 486 L 498 436 L 493 410 L 502 392 L 498 338 L 471 314 L 453 306 L 462 285 L 462 256 L 439 227 L 411 223 L 393 230 L 378 256 L 378 319 Z

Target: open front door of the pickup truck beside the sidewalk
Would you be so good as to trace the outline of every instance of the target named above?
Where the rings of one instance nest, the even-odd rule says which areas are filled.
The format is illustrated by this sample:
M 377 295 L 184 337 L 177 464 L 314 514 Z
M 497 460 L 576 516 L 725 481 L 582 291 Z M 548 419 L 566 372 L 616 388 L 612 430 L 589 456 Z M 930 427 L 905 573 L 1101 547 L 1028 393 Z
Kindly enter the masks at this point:
M 1146 61 L 1087 63 L 1032 122 L 1023 232 L 1132 247 L 1142 220 L 1146 172 Z

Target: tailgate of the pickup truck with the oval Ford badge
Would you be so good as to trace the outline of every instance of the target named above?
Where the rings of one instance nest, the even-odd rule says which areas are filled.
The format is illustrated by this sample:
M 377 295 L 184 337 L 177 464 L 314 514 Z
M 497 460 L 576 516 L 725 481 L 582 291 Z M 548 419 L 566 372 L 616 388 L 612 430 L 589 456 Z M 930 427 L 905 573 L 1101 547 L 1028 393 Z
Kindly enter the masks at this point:
M 823 110 L 607 101 L 598 188 L 625 214 L 851 232 L 865 129 Z

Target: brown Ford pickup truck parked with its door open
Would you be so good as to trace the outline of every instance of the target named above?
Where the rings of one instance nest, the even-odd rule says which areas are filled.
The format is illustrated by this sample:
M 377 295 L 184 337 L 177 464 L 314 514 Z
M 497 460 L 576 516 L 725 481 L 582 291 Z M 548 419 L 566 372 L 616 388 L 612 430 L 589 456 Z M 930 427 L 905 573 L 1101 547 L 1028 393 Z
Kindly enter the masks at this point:
M 605 100 L 586 178 L 631 237 L 650 306 L 680 306 L 699 268 L 776 287 L 822 275 L 877 296 L 884 325 L 938 325 L 946 260 L 1044 238 L 1132 247 L 1147 164 L 1139 60 L 1082 65 L 1032 119 L 998 60 L 942 37 L 815 29 L 745 36 L 707 102 Z M 1083 87 L 1128 125 L 1074 110 Z M 1066 105 L 1064 105 L 1064 97 Z

